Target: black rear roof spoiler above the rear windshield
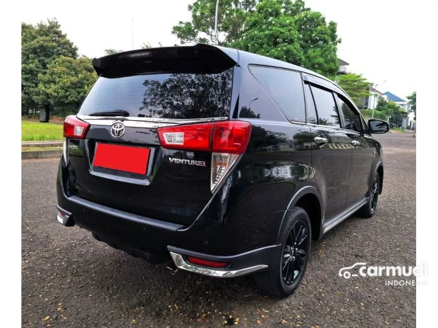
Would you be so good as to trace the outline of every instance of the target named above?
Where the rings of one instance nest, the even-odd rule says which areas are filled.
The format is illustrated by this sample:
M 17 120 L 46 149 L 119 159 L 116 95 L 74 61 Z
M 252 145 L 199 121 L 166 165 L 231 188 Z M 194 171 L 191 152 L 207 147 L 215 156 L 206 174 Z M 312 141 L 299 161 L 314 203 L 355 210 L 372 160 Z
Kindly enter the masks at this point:
M 237 50 L 208 44 L 138 49 L 93 59 L 97 75 L 110 78 L 148 73 L 214 74 L 237 63 Z

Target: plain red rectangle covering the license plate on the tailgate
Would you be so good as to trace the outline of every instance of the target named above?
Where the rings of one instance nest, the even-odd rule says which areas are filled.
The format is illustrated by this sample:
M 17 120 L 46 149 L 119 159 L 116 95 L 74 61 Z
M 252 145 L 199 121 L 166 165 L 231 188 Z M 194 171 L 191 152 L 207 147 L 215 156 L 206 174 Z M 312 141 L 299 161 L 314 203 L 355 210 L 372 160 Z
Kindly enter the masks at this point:
M 113 170 L 146 174 L 149 148 L 97 143 L 93 165 Z

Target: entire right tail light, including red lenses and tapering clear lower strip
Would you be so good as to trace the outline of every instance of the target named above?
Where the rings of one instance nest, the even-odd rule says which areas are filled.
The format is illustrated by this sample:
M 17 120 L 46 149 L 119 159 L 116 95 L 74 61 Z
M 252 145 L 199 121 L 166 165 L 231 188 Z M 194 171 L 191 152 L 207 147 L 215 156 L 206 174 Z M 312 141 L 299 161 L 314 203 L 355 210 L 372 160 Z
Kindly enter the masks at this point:
M 214 192 L 247 149 L 251 124 L 221 121 L 157 129 L 164 148 L 212 152 L 210 190 Z

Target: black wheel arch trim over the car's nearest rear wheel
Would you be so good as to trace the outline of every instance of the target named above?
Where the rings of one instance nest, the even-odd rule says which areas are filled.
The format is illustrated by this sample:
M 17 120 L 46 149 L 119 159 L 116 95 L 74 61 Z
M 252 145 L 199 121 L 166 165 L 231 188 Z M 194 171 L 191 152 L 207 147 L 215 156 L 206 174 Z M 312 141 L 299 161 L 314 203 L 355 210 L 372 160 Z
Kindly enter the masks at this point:
M 312 240 L 318 240 L 322 234 L 322 217 L 323 206 L 322 198 L 319 191 L 313 186 L 306 186 L 299 189 L 289 201 L 289 204 L 284 211 L 283 218 L 277 233 L 277 242 L 279 241 L 280 232 L 283 229 L 285 217 L 291 208 L 294 206 L 302 207 L 308 214 L 312 229 Z

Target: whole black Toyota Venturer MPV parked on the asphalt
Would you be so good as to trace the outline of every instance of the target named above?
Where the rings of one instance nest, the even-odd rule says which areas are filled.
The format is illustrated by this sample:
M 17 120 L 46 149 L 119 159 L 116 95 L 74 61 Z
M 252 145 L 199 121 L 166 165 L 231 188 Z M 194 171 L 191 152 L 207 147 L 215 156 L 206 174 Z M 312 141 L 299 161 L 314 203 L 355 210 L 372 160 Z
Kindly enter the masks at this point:
M 371 217 L 382 149 L 348 95 L 307 69 L 205 44 L 93 60 L 64 123 L 57 219 L 150 262 L 287 296 L 311 240 Z

